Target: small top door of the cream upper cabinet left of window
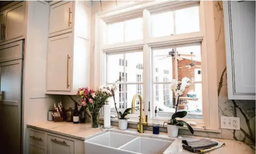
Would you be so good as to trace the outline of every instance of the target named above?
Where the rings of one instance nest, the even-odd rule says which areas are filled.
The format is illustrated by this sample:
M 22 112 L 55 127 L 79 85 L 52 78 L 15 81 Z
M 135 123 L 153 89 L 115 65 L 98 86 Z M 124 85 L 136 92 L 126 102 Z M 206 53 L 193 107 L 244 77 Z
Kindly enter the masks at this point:
M 73 1 L 62 1 L 51 5 L 49 33 L 72 28 Z

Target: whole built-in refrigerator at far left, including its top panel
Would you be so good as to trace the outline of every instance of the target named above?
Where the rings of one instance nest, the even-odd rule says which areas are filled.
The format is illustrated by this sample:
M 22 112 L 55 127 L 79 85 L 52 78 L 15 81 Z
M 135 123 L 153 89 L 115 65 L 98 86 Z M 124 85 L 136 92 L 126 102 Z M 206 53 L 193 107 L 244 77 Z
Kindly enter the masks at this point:
M 21 153 L 23 40 L 0 46 L 0 154 Z

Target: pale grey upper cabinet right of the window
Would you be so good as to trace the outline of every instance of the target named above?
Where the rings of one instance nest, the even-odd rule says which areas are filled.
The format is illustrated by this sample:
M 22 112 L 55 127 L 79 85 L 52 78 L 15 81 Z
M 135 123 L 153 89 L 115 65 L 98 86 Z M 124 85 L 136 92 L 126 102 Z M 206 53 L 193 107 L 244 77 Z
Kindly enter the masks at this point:
M 228 99 L 255 100 L 255 1 L 223 1 Z

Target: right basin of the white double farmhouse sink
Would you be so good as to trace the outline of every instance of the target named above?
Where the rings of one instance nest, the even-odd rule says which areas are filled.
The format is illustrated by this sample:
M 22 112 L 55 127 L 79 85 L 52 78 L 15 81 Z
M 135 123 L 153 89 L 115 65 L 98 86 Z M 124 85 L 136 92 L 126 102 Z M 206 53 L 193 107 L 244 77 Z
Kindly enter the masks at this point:
M 123 146 L 121 149 L 136 152 L 139 154 L 163 154 L 163 152 L 171 144 L 171 141 L 138 137 L 127 145 Z

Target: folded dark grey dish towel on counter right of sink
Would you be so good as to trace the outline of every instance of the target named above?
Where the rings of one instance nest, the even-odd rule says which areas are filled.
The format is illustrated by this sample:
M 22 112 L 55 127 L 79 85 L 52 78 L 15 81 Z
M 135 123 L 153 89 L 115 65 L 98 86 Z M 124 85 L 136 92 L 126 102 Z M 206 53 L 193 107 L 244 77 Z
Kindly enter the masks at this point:
M 196 141 L 186 141 L 182 140 L 182 147 L 188 151 L 203 154 L 214 149 L 218 149 L 225 145 L 225 143 L 210 140 L 207 138 L 196 140 Z

